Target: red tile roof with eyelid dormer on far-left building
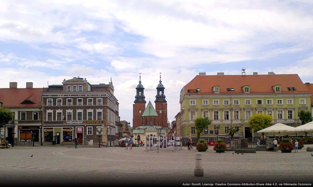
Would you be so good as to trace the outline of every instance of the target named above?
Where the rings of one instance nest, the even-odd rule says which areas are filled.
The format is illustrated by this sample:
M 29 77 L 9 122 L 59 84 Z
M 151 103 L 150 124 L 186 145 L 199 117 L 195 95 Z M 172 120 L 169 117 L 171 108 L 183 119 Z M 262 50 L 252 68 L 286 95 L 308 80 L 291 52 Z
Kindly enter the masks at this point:
M 0 101 L 7 108 L 38 108 L 42 107 L 41 92 L 44 88 L 1 88 Z M 20 104 L 25 100 L 34 104 Z

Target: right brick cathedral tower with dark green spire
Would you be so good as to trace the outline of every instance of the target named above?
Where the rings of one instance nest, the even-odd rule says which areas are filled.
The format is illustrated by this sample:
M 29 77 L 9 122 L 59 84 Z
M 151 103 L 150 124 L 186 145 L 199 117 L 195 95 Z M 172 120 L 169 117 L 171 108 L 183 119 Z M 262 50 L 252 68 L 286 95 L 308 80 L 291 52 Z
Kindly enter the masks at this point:
M 156 104 L 156 113 L 159 116 L 159 125 L 165 128 L 167 127 L 167 101 L 165 100 L 165 88 L 161 81 L 161 73 L 159 82 L 156 87 L 156 100 L 154 102 Z

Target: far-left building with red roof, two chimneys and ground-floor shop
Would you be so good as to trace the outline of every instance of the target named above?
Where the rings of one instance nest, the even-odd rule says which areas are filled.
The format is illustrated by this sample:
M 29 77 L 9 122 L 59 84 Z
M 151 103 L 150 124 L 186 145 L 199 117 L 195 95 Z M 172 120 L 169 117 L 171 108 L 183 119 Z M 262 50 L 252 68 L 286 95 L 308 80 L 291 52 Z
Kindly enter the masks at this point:
M 17 82 L 10 82 L 9 88 L 0 89 L 2 107 L 10 109 L 14 119 L 0 132 L 10 144 L 40 145 L 42 105 L 41 92 L 44 88 L 33 88 L 32 82 L 26 82 L 26 88 L 17 88 Z

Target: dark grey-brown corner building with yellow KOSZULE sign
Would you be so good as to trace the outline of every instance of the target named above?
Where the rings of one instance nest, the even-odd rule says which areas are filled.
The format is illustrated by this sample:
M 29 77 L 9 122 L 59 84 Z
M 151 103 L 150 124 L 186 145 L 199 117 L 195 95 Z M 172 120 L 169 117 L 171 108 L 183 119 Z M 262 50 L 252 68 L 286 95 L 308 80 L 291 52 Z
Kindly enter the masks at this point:
M 119 103 L 112 81 L 92 85 L 74 77 L 42 92 L 44 145 L 118 145 Z M 102 132 L 100 132 L 102 130 Z M 99 137 L 100 135 L 100 137 Z

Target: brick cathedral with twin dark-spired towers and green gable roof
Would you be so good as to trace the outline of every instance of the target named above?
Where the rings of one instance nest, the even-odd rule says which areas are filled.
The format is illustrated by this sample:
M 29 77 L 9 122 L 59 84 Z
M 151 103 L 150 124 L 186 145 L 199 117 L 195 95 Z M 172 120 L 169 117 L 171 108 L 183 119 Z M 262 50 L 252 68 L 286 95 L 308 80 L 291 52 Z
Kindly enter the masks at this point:
M 144 87 L 141 84 L 141 76 L 139 76 L 139 84 L 136 87 L 136 96 L 133 104 L 133 128 L 141 125 L 159 125 L 167 127 L 167 101 L 164 95 L 164 86 L 161 81 L 156 87 L 155 107 L 149 101 L 146 106 Z

